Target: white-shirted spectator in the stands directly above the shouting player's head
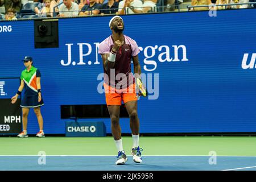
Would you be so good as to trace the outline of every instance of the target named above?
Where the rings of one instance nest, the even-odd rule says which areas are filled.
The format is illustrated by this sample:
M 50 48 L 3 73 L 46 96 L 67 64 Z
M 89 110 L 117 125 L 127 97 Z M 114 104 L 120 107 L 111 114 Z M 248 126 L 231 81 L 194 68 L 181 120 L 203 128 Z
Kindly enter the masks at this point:
M 141 0 L 123 0 L 119 2 L 119 15 L 143 13 Z

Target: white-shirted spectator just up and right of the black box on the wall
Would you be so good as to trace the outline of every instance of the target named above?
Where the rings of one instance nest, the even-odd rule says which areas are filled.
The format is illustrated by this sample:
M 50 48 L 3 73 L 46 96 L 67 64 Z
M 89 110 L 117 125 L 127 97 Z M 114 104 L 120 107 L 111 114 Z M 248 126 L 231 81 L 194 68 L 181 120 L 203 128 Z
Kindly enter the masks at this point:
M 63 4 L 60 5 L 59 11 L 59 16 L 77 16 L 79 14 L 79 7 L 77 3 L 72 2 L 71 0 L 63 0 Z

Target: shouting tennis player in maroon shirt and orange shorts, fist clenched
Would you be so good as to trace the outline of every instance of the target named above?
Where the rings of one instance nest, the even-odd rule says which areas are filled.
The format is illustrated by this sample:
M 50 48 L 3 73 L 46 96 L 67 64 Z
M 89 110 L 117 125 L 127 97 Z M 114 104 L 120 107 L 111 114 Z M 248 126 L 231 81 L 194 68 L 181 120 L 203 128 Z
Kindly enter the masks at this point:
M 119 109 L 122 101 L 130 117 L 131 136 L 133 138 L 131 154 L 135 163 L 142 163 L 142 148 L 139 147 L 137 94 L 135 93 L 134 77 L 131 74 L 131 59 L 133 59 L 134 73 L 141 75 L 141 65 L 138 60 L 139 48 L 135 40 L 123 35 L 125 26 L 120 16 L 114 16 L 110 19 L 109 27 L 112 30 L 112 35 L 100 43 L 98 53 L 101 54 L 104 64 L 106 104 L 111 118 L 115 146 L 118 150 L 115 164 L 125 164 L 127 161 L 119 125 Z

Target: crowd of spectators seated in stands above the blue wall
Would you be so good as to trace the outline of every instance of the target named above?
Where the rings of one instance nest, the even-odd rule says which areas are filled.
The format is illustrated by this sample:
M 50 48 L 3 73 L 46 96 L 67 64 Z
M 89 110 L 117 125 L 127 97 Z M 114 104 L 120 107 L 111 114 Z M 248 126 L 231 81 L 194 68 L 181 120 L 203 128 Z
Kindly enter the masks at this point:
M 0 0 L 0 7 L 5 7 L 5 20 L 16 20 L 15 15 L 34 14 L 36 17 L 70 17 L 104 14 L 155 13 L 160 6 L 163 11 L 174 11 L 184 0 Z M 188 2 L 187 0 L 186 2 Z M 256 2 L 256 0 L 191 0 L 189 5 L 224 5 Z M 32 6 L 27 6 L 32 5 Z M 256 5 L 230 5 L 193 7 L 190 11 L 244 9 Z M 27 11 L 31 9 L 31 12 Z M 0 12 L 1 13 L 1 12 Z M 22 18 L 20 16 L 19 18 Z M 0 17 L 1 19 L 1 17 Z

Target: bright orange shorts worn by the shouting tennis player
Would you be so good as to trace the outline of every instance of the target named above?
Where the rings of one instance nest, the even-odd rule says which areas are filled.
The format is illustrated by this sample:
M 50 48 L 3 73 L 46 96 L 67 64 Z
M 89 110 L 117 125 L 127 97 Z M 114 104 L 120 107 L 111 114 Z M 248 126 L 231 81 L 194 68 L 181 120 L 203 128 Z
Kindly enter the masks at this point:
M 137 94 L 135 92 L 136 85 L 131 84 L 128 88 L 117 90 L 112 86 L 104 83 L 106 104 L 109 105 L 121 105 L 122 101 L 125 104 L 129 101 L 137 101 Z

